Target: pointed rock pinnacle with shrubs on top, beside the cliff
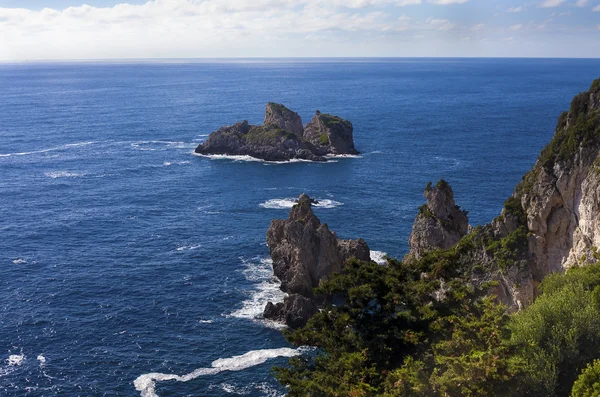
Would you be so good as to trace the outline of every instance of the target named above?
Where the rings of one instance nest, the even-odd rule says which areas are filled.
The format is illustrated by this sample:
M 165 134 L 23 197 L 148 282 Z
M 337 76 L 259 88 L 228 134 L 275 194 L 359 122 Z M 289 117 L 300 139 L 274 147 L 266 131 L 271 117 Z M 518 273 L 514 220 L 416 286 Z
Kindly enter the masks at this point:
M 424 195 L 427 204 L 419 208 L 409 239 L 409 255 L 416 259 L 427 251 L 456 245 L 469 228 L 467 214 L 454 203 L 454 192 L 446 181 L 435 186 L 429 183 Z

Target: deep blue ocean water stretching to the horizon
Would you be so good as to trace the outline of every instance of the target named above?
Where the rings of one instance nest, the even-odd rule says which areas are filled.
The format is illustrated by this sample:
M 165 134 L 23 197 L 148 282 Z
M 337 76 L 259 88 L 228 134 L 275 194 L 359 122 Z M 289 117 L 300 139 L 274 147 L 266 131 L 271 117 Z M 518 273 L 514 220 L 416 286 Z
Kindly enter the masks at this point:
M 265 232 L 306 192 L 340 237 L 407 251 L 428 181 L 498 215 L 600 60 L 0 64 L 0 395 L 279 396 L 301 351 Z M 357 158 L 192 155 L 268 101 L 340 115 Z

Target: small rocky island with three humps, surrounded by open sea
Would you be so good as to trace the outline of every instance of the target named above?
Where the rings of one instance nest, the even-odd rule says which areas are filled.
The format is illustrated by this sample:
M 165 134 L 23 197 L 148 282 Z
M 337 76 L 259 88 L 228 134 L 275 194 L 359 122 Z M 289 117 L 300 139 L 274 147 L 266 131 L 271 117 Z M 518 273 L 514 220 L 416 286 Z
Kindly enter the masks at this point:
M 318 110 L 305 126 L 298 113 L 268 103 L 262 125 L 244 120 L 221 127 L 198 145 L 199 155 L 251 156 L 265 161 L 327 161 L 328 156 L 356 155 L 352 123 Z

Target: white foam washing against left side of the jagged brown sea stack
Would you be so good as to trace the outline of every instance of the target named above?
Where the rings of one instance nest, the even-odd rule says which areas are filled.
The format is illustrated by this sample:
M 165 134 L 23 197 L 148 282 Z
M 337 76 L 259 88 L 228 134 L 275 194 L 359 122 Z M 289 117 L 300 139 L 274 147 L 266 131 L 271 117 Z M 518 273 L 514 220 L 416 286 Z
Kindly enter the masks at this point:
M 244 261 L 246 268 L 243 273 L 246 280 L 255 283 L 254 290 L 248 299 L 242 302 L 242 307 L 230 314 L 231 317 L 245 318 L 248 320 L 261 320 L 264 325 L 271 328 L 284 328 L 285 326 L 274 321 L 264 320 L 263 311 L 268 302 L 282 302 L 286 294 L 281 291 L 281 283 L 273 275 L 273 261 L 270 258 L 254 258 Z

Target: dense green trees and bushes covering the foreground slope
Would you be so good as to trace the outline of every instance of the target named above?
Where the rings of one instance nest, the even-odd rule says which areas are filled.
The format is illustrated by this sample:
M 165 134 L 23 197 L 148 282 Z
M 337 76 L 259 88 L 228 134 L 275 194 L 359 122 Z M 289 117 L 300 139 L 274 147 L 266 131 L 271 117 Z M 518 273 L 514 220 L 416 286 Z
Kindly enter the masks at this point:
M 345 303 L 286 332 L 316 347 L 275 369 L 289 396 L 598 395 L 598 364 L 573 384 L 600 358 L 600 265 L 548 277 L 510 315 L 451 265 L 427 262 L 351 261 L 323 283 L 318 293 Z

